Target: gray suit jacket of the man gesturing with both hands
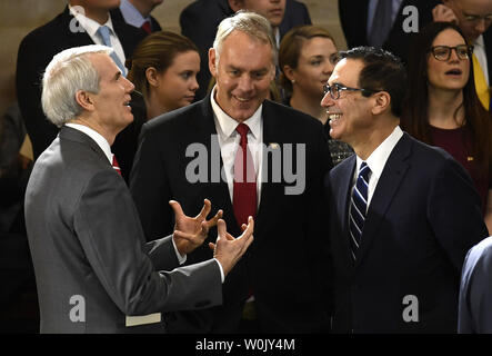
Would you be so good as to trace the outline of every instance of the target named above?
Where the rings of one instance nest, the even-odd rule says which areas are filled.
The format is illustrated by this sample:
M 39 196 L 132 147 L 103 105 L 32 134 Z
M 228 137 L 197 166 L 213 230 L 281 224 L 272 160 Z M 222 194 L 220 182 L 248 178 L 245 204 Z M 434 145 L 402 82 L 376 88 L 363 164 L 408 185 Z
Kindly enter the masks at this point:
M 171 237 L 144 244 L 123 179 L 81 131 L 62 127 L 38 158 L 26 222 L 42 333 L 164 332 L 164 323 L 127 328 L 125 315 L 221 301 L 214 260 L 163 271 L 178 267 Z M 76 295 L 84 298 L 84 322 L 70 319 Z

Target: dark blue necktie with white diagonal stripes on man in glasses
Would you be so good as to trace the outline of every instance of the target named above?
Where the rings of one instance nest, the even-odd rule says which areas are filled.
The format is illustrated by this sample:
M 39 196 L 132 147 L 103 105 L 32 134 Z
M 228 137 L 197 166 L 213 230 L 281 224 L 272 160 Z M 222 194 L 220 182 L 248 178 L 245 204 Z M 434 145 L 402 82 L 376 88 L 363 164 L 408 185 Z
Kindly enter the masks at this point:
M 350 201 L 350 247 L 352 259 L 355 260 L 357 251 L 361 243 L 361 236 L 365 222 L 365 214 L 368 210 L 368 186 L 369 174 L 371 169 L 367 162 L 362 162 L 359 169 L 355 186 L 352 190 L 352 199 Z

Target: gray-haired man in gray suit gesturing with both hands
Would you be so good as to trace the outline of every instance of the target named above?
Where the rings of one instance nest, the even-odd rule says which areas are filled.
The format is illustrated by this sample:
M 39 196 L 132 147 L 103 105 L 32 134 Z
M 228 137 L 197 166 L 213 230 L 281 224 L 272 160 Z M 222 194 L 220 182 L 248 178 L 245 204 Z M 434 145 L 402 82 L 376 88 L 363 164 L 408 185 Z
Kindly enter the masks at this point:
M 174 233 L 144 244 L 110 150 L 133 119 L 134 87 L 110 53 L 96 44 L 64 50 L 43 77 L 42 107 L 61 130 L 38 158 L 26 194 L 42 333 L 165 332 L 161 312 L 222 301 L 221 281 L 252 241 L 252 219 L 233 239 L 221 211 L 207 220 L 205 200 L 195 218 L 171 201 Z M 214 258 L 175 268 L 215 224 Z

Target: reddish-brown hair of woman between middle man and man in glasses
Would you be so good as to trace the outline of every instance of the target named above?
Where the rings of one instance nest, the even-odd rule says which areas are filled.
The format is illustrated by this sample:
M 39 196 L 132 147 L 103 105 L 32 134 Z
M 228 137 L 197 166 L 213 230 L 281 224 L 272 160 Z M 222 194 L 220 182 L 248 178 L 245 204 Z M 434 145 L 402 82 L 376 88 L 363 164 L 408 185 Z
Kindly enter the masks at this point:
M 331 37 L 330 32 L 327 29 L 312 24 L 297 26 L 292 28 L 289 32 L 285 33 L 282 41 L 280 42 L 279 68 L 281 70 L 281 73 L 279 79 L 280 85 L 287 91 L 292 92 L 292 83 L 283 73 L 283 67 L 289 66 L 292 69 L 298 68 L 302 46 L 305 41 L 315 37 L 328 38 L 337 47 L 334 39 Z

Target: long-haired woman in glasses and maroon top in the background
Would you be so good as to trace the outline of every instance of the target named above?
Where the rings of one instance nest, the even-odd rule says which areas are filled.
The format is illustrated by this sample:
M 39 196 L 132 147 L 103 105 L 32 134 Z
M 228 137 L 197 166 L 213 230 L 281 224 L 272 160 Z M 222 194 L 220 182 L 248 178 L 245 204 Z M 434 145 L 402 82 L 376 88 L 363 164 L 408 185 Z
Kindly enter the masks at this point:
M 409 60 L 401 126 L 464 166 L 492 233 L 492 123 L 475 92 L 472 52 L 451 22 L 432 22 L 419 33 Z

